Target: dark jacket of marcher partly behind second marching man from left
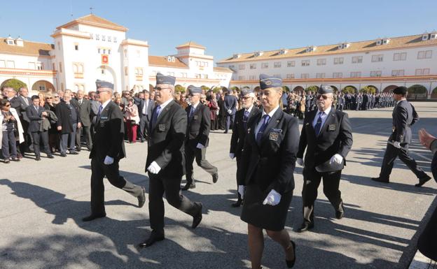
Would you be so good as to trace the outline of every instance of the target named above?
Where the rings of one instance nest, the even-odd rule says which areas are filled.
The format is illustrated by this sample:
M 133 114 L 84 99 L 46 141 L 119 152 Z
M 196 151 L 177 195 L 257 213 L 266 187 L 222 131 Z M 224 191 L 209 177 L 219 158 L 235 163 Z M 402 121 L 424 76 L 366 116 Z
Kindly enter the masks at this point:
M 190 105 L 185 109 L 188 119 L 186 144 L 190 145 L 190 147 L 196 147 L 197 143 L 200 143 L 208 147 L 208 136 L 211 130 L 211 111 L 207 106 L 199 103 L 190 117 L 192 106 Z

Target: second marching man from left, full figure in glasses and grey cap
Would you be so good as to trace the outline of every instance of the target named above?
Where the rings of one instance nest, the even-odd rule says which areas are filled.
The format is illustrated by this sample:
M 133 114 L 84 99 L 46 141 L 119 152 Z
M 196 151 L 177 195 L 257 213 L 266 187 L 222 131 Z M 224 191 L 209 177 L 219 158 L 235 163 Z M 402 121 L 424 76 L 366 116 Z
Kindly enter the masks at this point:
M 139 247 L 150 247 L 164 240 L 164 201 L 193 217 L 193 228 L 202 221 L 202 203 L 193 203 L 181 194 L 181 180 L 185 174 L 183 141 L 187 128 L 186 112 L 173 100 L 172 76 L 156 74 L 156 106 L 148 125 L 148 211 L 151 235 Z

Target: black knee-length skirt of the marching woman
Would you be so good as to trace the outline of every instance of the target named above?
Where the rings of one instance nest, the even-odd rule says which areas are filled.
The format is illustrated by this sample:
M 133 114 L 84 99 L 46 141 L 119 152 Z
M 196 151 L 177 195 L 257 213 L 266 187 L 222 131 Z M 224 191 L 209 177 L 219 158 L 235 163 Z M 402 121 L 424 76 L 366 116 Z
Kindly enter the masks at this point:
M 246 187 L 241 219 L 248 224 L 269 231 L 284 229 L 287 213 L 293 197 L 293 191 L 282 194 L 279 204 L 263 205 L 269 191 L 261 190 L 258 185 L 251 184 Z

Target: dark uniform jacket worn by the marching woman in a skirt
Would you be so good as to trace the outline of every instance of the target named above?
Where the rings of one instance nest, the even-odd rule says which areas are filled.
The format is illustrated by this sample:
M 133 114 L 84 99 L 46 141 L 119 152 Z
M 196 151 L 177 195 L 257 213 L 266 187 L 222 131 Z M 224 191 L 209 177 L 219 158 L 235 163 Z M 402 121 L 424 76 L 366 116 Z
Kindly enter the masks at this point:
M 298 119 L 281 109 L 276 110 L 263 132 L 261 145 L 258 145 L 255 131 L 261 117 L 262 113 L 258 113 L 247 131 L 238 184 L 258 184 L 266 194 L 272 189 L 284 194 L 294 189 L 293 172 L 299 144 Z

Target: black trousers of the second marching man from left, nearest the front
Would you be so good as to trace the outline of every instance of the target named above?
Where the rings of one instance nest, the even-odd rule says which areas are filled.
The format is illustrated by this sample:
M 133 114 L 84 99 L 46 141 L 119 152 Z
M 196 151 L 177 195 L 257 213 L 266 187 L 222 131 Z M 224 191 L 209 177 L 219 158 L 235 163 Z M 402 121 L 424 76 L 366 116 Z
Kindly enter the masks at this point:
M 165 193 L 167 202 L 174 208 L 195 216 L 200 208 L 200 203 L 193 203 L 181 194 L 182 177 L 164 178 L 160 175 L 148 174 L 148 212 L 153 231 L 164 235 L 164 201 Z

